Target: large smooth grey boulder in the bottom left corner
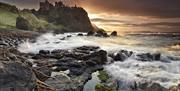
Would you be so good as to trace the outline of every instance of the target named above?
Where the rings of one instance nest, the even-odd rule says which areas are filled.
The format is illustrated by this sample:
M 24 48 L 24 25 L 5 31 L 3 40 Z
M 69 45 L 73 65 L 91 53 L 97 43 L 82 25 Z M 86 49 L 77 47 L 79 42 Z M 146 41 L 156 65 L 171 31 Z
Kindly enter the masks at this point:
M 1 91 L 33 91 L 36 77 L 33 71 L 19 62 L 0 62 Z

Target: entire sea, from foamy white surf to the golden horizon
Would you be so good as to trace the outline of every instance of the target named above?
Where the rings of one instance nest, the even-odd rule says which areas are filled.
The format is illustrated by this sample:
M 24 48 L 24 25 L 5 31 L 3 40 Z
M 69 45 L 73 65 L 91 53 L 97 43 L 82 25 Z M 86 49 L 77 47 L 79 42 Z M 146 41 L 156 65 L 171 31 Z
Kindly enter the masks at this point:
M 138 32 L 125 33 L 118 37 L 77 36 L 78 33 L 46 33 L 34 41 L 24 41 L 18 50 L 24 53 L 38 53 L 39 50 L 71 49 L 79 46 L 99 46 L 107 52 L 133 51 L 134 55 L 123 62 L 104 65 L 114 79 L 122 82 L 122 88 L 129 84 L 151 81 L 169 88 L 180 84 L 180 32 Z M 67 37 L 70 36 L 71 37 Z M 160 61 L 138 61 L 139 53 L 160 53 Z

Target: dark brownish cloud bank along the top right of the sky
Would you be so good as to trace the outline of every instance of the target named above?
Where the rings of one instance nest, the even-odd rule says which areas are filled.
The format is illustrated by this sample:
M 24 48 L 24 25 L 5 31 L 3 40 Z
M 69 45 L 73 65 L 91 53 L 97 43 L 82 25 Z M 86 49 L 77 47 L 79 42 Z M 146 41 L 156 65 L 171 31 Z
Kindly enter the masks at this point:
M 84 0 L 92 12 L 113 12 L 158 18 L 180 17 L 180 0 Z

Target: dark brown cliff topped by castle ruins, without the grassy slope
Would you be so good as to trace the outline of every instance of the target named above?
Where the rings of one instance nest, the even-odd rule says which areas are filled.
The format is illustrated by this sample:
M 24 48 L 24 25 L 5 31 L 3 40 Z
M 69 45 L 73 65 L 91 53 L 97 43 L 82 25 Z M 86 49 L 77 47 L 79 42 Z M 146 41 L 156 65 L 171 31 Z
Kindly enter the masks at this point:
M 49 23 L 63 25 L 70 32 L 92 31 L 93 26 L 90 22 L 87 12 L 81 7 L 69 7 L 62 2 L 56 2 L 55 5 L 48 1 L 41 2 L 40 8 L 35 12 L 37 17 L 45 18 Z

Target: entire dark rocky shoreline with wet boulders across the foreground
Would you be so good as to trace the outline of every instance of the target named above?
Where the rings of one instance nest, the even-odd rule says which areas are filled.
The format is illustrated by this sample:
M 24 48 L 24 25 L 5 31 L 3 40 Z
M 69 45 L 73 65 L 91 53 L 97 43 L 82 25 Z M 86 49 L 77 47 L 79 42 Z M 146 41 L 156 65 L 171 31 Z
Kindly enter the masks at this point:
M 106 35 L 103 32 L 88 34 L 97 37 Z M 92 78 L 91 74 L 96 71 L 100 72 L 98 77 L 101 79 L 101 83 L 96 85 L 96 91 L 122 91 L 119 81 L 112 79 L 104 71 L 103 65 L 124 61 L 134 52 L 120 50 L 118 53 L 107 53 L 98 46 L 40 50 L 37 54 L 21 53 L 17 50 L 18 44 L 26 39 L 33 41 L 37 35 L 27 32 L 1 33 L 0 91 L 83 91 L 86 82 Z M 117 36 L 117 33 L 114 32 L 111 36 Z M 161 54 L 139 54 L 138 60 L 159 61 L 160 57 Z M 130 91 L 180 90 L 179 85 L 167 89 L 158 83 L 149 82 L 134 82 L 130 88 Z

